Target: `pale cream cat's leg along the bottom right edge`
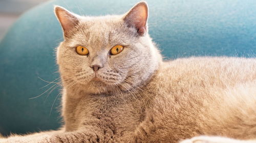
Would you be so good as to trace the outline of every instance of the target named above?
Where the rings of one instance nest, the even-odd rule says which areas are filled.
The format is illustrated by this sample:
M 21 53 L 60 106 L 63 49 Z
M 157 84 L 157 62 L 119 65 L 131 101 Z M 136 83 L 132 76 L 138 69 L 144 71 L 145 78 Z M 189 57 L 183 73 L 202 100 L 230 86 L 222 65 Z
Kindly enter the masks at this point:
M 219 136 L 196 136 L 190 139 L 185 139 L 180 143 L 256 143 L 255 140 L 238 140 Z

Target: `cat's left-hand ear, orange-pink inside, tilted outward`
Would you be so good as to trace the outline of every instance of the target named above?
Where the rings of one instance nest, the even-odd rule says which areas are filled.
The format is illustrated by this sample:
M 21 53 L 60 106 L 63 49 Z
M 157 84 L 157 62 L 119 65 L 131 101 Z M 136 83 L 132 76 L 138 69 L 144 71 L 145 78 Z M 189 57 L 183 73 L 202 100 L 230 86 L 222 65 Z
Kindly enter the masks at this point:
M 62 27 L 64 36 L 68 36 L 72 28 L 78 24 L 78 16 L 60 6 L 55 6 L 54 12 Z

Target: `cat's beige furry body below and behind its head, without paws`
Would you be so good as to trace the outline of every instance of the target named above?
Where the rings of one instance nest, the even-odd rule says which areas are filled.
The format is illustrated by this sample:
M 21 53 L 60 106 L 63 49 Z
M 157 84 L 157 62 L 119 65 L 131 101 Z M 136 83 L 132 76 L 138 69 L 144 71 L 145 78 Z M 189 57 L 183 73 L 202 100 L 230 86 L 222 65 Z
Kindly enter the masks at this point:
M 100 139 L 108 132 L 115 142 L 177 142 L 202 134 L 250 139 L 256 135 L 255 70 L 255 59 L 178 59 L 162 63 L 130 92 L 73 100 L 66 92 L 66 130 L 96 124 Z

